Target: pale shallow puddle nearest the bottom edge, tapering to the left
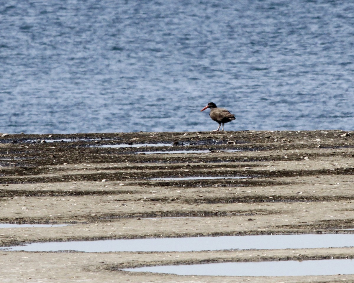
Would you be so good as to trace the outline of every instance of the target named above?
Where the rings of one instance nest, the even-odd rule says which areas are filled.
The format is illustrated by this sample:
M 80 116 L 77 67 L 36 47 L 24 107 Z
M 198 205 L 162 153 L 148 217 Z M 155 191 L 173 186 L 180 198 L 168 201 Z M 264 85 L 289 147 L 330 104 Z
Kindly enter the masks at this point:
M 287 260 L 260 262 L 222 262 L 193 265 L 165 265 L 127 268 L 125 271 L 209 276 L 310 276 L 353 274 L 354 260 Z

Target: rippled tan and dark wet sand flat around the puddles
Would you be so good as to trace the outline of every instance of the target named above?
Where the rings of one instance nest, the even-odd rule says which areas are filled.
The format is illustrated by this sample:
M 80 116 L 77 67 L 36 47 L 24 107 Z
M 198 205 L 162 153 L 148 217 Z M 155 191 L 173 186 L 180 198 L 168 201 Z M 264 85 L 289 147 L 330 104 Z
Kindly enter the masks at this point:
M 166 146 L 136 146 L 145 143 Z M 132 146 L 103 147 L 116 144 Z M 352 133 L 343 131 L 5 135 L 0 138 L 0 222 L 75 225 L 0 228 L 0 245 L 352 233 L 338 229 L 354 228 L 353 146 Z M 148 154 L 176 150 L 194 153 Z M 207 176 L 225 179 L 151 180 Z M 226 178 L 235 176 L 247 178 Z M 354 274 L 217 277 L 120 270 L 354 258 L 354 248 L 0 254 L 1 282 L 354 282 Z

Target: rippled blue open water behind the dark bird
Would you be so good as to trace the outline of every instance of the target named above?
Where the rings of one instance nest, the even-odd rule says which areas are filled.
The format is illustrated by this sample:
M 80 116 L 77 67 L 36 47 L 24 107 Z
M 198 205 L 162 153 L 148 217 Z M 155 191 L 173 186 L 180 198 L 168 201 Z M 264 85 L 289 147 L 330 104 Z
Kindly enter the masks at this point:
M 0 132 L 353 130 L 354 2 L 7 0 Z

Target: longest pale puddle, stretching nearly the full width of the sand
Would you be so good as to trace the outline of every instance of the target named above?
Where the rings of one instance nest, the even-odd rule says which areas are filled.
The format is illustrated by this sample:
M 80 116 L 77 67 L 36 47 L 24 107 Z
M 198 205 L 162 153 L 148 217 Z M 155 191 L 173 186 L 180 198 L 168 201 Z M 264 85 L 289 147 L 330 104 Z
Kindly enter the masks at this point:
M 10 250 L 79 252 L 188 252 L 223 249 L 306 249 L 354 246 L 354 234 L 257 235 L 32 243 Z

